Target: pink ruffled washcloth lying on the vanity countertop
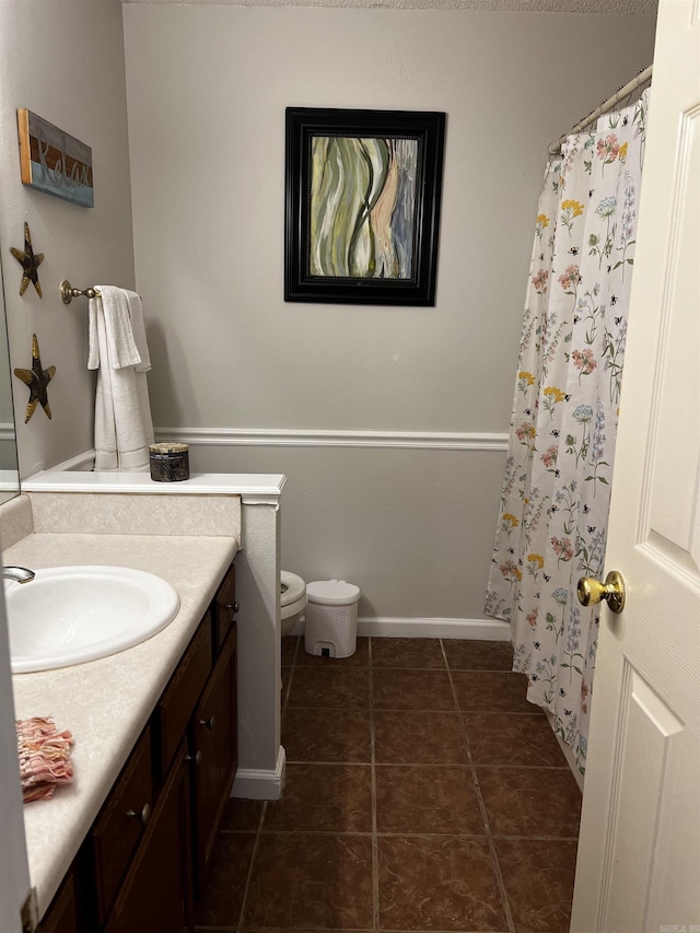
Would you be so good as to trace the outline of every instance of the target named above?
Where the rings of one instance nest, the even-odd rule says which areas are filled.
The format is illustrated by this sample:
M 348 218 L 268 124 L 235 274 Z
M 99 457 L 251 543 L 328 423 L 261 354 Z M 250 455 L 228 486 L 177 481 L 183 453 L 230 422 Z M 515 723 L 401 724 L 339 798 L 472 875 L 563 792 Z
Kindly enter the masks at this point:
M 67 730 L 58 732 L 49 716 L 18 720 L 15 726 L 24 803 L 48 801 L 57 784 L 73 780 L 73 736 Z

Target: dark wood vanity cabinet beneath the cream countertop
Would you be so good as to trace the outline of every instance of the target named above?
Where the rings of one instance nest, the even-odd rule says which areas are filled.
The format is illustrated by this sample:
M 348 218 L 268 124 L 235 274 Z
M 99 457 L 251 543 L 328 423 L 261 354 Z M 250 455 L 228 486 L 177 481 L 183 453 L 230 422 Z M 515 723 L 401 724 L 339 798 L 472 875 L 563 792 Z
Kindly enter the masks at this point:
M 67 878 L 42 933 L 192 930 L 237 766 L 234 606 L 232 567 L 75 859 L 73 907 Z

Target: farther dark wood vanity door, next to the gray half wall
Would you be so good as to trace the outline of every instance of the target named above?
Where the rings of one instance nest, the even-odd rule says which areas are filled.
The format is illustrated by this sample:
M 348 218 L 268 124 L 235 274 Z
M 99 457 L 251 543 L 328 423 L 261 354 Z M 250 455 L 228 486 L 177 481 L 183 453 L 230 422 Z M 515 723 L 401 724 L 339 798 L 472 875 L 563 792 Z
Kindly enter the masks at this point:
M 236 773 L 236 629 L 223 651 L 190 725 L 194 759 L 196 890 L 201 889 L 217 827 Z

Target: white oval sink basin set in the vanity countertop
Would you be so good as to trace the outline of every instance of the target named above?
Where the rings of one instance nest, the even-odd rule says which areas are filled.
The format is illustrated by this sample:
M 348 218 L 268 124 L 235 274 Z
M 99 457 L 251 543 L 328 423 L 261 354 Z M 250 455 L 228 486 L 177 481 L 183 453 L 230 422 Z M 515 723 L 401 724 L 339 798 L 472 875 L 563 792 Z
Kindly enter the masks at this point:
M 50 670 L 133 648 L 179 608 L 165 580 L 128 567 L 55 567 L 5 581 L 13 674 Z

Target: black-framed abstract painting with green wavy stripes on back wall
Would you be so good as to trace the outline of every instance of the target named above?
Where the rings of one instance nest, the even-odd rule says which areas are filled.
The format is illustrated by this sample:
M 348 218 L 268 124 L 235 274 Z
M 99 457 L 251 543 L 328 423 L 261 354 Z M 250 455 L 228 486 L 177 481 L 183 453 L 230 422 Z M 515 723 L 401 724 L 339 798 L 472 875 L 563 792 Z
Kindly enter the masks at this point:
M 445 121 L 444 113 L 427 110 L 287 108 L 284 301 L 434 306 Z M 396 153 L 407 153 L 400 167 L 396 167 Z M 340 196 L 335 188 L 335 202 L 331 197 L 322 198 L 319 193 L 327 190 L 324 184 L 341 185 L 339 177 L 350 177 L 351 173 L 342 167 L 350 164 L 349 160 L 355 176 L 362 173 L 354 194 L 345 189 Z M 336 172 L 340 163 L 342 166 Z M 380 173 L 373 171 L 377 164 Z M 387 165 L 393 166 L 393 180 L 388 184 Z M 385 206 L 398 203 L 397 189 L 402 195 L 398 220 L 396 208 L 382 209 L 376 195 L 377 174 L 387 188 L 393 186 Z M 368 178 L 365 193 L 362 186 Z M 358 190 L 363 194 L 358 195 Z M 331 217 L 329 205 L 337 207 L 340 197 L 346 201 L 353 198 L 357 210 L 342 212 L 338 220 L 339 213 Z M 370 197 L 374 200 L 370 201 Z M 376 215 L 383 215 L 384 225 L 377 234 L 369 230 L 369 224 L 375 222 L 374 210 Z M 338 223 L 345 224 L 339 236 L 336 231 L 340 228 L 334 225 Z M 389 242 L 395 224 L 400 225 L 400 236 L 395 237 L 397 249 Z M 381 252 L 377 242 L 388 244 L 380 256 L 380 266 L 375 259 Z M 319 243 L 326 245 L 323 253 Z M 351 249 L 346 248 L 348 243 Z M 360 254 L 364 266 L 357 258 Z M 400 260 L 396 258 L 399 254 Z M 312 266 L 312 261 L 316 265 Z M 387 268 L 389 273 L 385 275 Z

